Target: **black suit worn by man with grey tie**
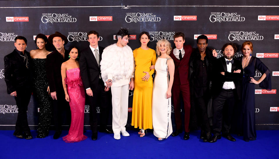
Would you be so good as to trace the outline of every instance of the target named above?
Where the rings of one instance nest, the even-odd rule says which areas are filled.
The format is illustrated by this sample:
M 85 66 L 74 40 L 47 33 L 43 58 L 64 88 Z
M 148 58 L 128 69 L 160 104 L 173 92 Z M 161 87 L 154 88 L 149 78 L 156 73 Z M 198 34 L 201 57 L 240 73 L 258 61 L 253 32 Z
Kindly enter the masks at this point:
M 101 62 L 102 53 L 104 48 L 99 46 L 99 61 Z M 90 49 L 87 47 L 81 52 L 79 58 L 79 65 L 81 70 L 81 78 L 83 81 L 84 88 L 91 88 L 93 96 L 89 97 L 90 103 L 90 126 L 92 133 L 97 132 L 97 113 L 96 107 L 101 107 L 101 116 L 100 116 L 100 126 L 101 129 L 106 129 L 108 115 L 111 107 L 111 92 L 105 92 L 105 85 L 102 78 L 99 78 L 101 75 L 100 67 L 96 61 L 96 58 Z

